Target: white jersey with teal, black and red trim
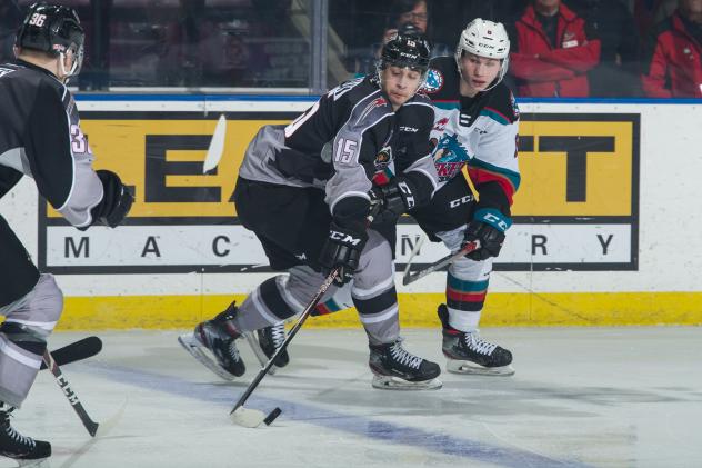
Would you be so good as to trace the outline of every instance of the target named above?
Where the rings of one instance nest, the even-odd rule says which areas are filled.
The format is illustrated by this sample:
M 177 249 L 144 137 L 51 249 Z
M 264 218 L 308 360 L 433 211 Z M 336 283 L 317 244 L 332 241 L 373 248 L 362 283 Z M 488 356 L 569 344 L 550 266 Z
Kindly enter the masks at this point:
M 481 202 L 481 185 L 495 182 L 502 199 L 489 205 L 509 210 L 520 183 L 517 102 L 503 82 L 474 98 L 461 97 L 460 80 L 453 57 L 432 60 L 424 88 L 435 106 L 431 142 L 439 180 L 445 183 L 467 165 Z M 494 193 L 485 190 L 490 197 Z

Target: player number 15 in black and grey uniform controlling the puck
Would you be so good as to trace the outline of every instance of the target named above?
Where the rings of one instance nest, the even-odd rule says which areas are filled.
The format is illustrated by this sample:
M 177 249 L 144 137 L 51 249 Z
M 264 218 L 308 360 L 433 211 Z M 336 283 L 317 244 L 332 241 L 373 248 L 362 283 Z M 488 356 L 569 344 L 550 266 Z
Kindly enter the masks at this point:
M 402 346 L 392 247 L 367 227 L 371 200 L 382 203 L 380 218 L 397 219 L 428 203 L 438 187 L 429 143 L 433 107 L 417 93 L 429 56 L 423 39 L 397 36 L 375 73 L 332 89 L 288 126 L 261 128 L 249 145 L 234 190 L 237 212 L 271 268 L 289 275 L 268 279 L 241 306 L 232 303 L 179 338 L 220 377 L 244 374 L 237 348 L 242 333 L 300 313 L 340 267 L 322 300 L 353 279 L 350 295 L 369 339 L 372 385 L 441 386 L 439 366 Z

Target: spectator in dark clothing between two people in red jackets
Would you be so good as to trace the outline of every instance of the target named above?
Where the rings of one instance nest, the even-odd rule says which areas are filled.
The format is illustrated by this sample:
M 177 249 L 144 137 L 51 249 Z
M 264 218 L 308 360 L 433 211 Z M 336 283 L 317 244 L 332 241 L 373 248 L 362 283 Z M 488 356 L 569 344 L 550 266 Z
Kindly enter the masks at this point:
M 588 72 L 590 96 L 641 96 L 640 40 L 634 19 L 621 0 L 569 0 L 600 39 L 600 63 Z

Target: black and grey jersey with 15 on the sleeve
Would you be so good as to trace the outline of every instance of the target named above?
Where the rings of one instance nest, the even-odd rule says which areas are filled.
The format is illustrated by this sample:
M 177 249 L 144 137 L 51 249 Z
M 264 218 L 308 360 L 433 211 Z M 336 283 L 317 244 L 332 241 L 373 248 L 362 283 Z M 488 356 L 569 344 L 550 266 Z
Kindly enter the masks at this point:
M 425 96 L 414 96 L 393 112 L 370 76 L 351 80 L 322 96 L 288 126 L 261 128 L 239 175 L 323 189 L 333 213 L 342 200 L 354 206 L 351 211 L 367 212 L 368 192 L 378 175 L 402 172 L 414 182 L 418 203 L 427 202 L 438 186 L 429 143 L 433 117 Z M 403 152 L 395 150 L 401 133 Z

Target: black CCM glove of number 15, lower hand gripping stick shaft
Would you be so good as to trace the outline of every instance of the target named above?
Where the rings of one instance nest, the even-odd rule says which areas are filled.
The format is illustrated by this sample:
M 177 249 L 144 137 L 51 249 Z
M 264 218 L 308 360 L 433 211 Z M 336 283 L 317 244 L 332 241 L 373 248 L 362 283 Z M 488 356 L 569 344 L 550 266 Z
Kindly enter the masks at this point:
M 341 286 L 351 281 L 355 269 L 359 268 L 359 259 L 367 240 L 368 235 L 364 231 L 357 232 L 353 229 L 344 229 L 332 222 L 329 226 L 329 237 L 319 258 L 322 272 L 329 275 L 334 268 L 341 267 L 334 282 Z

